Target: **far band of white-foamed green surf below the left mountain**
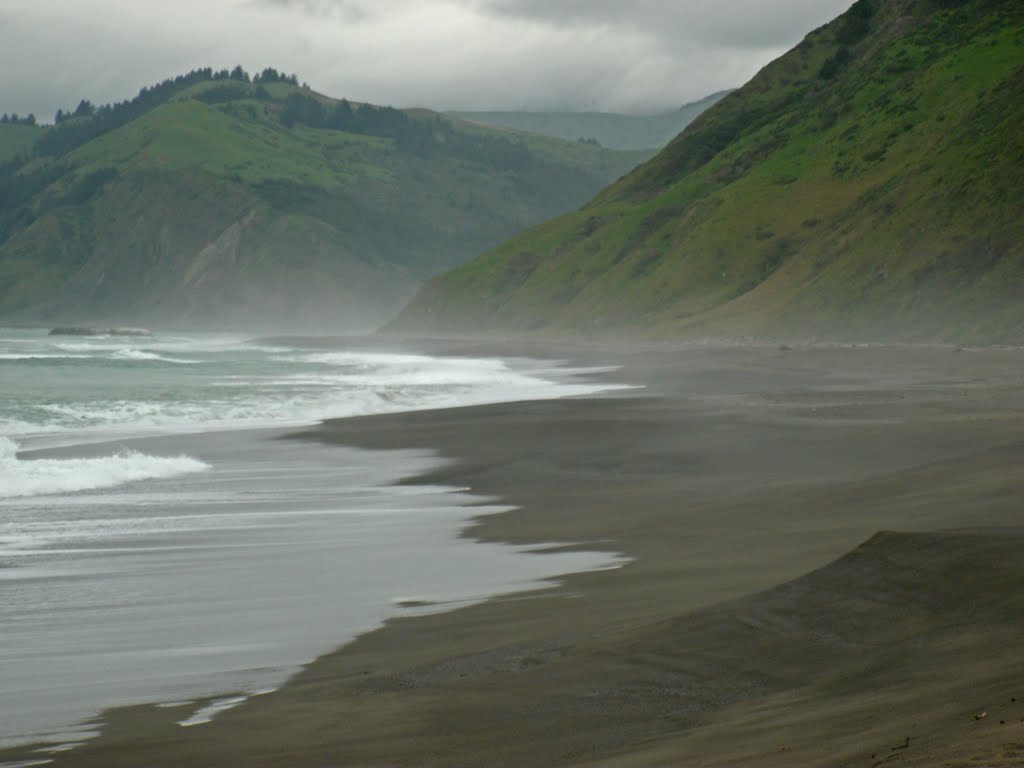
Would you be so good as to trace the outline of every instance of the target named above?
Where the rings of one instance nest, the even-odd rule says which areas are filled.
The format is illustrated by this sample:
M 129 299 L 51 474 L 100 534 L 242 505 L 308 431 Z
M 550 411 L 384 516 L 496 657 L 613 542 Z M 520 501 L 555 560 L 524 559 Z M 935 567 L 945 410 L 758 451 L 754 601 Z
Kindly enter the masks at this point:
M 12 396 L 0 401 L 0 434 L 34 447 L 617 388 L 571 381 L 564 373 L 552 376 L 561 371 L 557 366 L 285 348 L 229 336 L 56 340 L 26 334 L 7 339 L 0 355 L 12 358 L 4 366 L 5 374 L 11 372 Z M 73 377 L 62 368 L 65 357 L 84 364 Z

